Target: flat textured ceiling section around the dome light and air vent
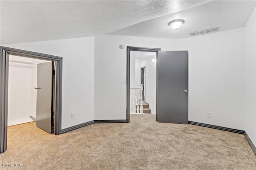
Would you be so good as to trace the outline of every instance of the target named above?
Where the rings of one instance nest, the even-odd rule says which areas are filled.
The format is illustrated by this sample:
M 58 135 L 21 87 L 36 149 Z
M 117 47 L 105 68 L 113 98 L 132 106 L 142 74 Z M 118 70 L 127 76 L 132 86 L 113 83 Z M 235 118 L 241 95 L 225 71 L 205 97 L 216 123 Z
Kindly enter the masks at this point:
M 190 32 L 220 27 L 219 31 L 244 27 L 255 8 L 255 1 L 212 1 L 176 14 L 144 21 L 110 34 L 140 37 L 181 39 Z M 168 23 L 182 19 L 180 29 L 172 29 Z

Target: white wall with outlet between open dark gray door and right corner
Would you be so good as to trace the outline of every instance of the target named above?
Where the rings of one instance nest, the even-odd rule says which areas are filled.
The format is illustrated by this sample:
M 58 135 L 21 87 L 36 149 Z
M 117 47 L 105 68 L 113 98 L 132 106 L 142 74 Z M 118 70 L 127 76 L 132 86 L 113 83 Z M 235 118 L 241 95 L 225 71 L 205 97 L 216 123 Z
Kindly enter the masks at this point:
M 189 53 L 188 120 L 243 130 L 244 28 L 177 43 Z

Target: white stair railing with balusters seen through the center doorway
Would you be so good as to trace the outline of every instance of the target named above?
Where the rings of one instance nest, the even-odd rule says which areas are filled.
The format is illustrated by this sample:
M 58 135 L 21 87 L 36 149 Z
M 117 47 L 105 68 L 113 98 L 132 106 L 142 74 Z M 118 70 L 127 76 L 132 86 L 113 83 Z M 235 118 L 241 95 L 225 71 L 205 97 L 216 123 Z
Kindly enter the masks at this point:
M 139 88 L 130 88 L 130 114 L 143 114 L 142 91 L 142 84 L 140 84 Z M 140 106 L 138 104 L 138 98 L 140 99 Z

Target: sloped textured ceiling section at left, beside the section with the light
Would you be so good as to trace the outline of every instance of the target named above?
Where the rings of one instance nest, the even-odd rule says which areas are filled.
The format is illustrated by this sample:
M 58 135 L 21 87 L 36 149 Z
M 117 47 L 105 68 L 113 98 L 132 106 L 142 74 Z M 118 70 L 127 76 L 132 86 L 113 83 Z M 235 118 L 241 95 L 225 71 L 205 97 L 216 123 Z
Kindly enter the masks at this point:
M 0 1 L 1 44 L 89 37 L 208 1 Z

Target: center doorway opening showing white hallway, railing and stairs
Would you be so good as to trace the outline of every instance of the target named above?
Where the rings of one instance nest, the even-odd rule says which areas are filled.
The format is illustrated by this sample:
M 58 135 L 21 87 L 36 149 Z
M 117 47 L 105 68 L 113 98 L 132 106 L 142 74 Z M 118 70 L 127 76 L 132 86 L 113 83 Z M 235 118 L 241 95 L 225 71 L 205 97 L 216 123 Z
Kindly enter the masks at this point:
M 130 53 L 130 114 L 156 114 L 155 59 L 156 52 Z

